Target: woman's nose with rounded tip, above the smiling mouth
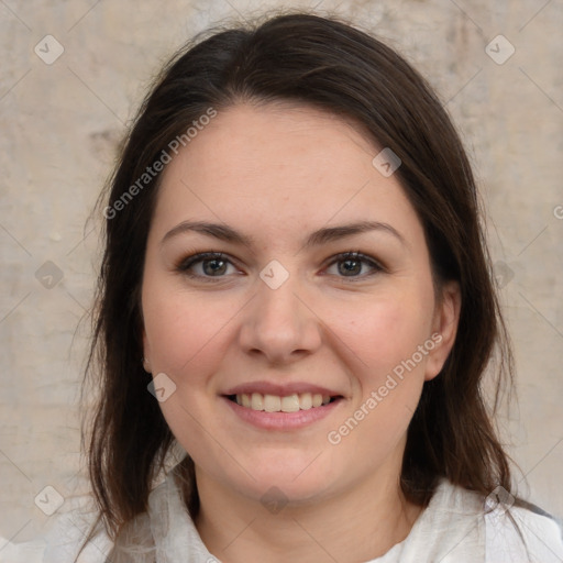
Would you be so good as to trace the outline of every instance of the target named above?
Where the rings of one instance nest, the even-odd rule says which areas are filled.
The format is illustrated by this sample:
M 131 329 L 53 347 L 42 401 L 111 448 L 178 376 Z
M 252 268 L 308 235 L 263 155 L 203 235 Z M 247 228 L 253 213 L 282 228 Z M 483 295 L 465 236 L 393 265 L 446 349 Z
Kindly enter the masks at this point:
M 260 279 L 257 294 L 244 309 L 242 350 L 277 365 L 317 351 L 322 342 L 322 324 L 305 296 L 292 276 L 275 289 Z

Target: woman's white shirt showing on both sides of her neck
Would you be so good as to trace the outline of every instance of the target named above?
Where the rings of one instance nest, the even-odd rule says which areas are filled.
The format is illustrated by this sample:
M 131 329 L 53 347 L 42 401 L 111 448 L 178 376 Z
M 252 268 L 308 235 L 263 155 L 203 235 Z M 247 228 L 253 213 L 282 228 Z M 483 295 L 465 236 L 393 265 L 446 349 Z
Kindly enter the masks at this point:
M 87 497 L 68 499 L 49 530 L 32 542 L 13 544 L 0 538 L 0 563 L 74 563 L 95 512 Z M 90 503 L 91 506 L 91 503 Z M 532 509 L 503 505 L 486 514 L 481 495 L 441 479 L 429 506 L 408 537 L 385 555 L 366 563 L 563 563 L 560 526 Z M 512 521 L 518 525 L 526 545 Z M 133 555 L 112 555 L 111 563 L 218 563 L 203 544 L 170 472 L 148 497 L 133 532 Z M 144 544 L 144 547 L 143 547 Z M 3 548 L 2 548 L 3 545 Z M 79 563 L 107 563 L 112 542 L 104 533 L 88 543 Z M 143 551 L 145 554 L 143 554 Z M 342 562 L 344 563 L 344 562 Z

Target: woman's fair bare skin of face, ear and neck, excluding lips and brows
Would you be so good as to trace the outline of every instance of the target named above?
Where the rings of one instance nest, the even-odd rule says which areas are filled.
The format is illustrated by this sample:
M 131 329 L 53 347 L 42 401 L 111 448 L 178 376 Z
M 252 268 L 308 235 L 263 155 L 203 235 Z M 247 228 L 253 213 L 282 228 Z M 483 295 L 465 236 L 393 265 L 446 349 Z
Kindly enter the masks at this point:
M 360 126 L 316 109 L 238 104 L 164 173 L 142 286 L 145 368 L 176 385 L 159 405 L 196 464 L 198 531 L 223 562 L 367 561 L 405 539 L 421 512 L 399 488 L 406 432 L 453 345 L 460 292 L 446 284 L 437 299 L 422 225 L 396 175 L 373 166 L 379 150 Z M 186 220 L 228 224 L 252 244 L 192 231 L 161 243 Z M 377 229 L 305 246 L 318 229 L 358 221 L 399 236 Z M 196 278 L 177 269 L 210 251 L 230 262 L 199 262 Z M 346 276 L 350 263 L 335 256 L 349 251 L 382 268 L 352 264 Z M 277 289 L 260 277 L 273 260 L 289 274 Z M 330 443 L 437 333 L 416 368 Z M 264 430 L 221 397 L 257 380 L 322 385 L 343 399 L 306 428 Z M 277 514 L 261 503 L 273 486 L 287 501 Z

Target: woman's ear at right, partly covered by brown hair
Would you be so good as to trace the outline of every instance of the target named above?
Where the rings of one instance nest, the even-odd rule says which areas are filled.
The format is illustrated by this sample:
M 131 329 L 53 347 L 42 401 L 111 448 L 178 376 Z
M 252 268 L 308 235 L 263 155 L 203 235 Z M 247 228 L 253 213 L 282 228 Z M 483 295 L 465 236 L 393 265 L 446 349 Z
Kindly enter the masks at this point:
M 448 282 L 440 299 L 437 300 L 434 317 L 432 319 L 432 341 L 435 346 L 428 355 L 424 379 L 433 379 L 442 369 L 450 351 L 455 342 L 462 297 L 460 284 Z

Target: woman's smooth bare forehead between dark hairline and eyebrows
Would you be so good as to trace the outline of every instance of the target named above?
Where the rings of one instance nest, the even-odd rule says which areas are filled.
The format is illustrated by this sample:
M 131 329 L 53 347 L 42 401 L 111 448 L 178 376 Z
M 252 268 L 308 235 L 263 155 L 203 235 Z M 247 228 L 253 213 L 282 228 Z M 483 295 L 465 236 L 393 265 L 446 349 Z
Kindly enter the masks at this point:
M 310 107 L 229 108 L 167 165 L 155 228 L 203 217 L 275 236 L 397 216 L 416 231 L 398 179 L 372 164 L 379 150 L 360 125 Z

